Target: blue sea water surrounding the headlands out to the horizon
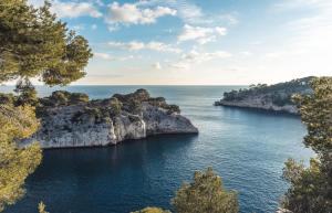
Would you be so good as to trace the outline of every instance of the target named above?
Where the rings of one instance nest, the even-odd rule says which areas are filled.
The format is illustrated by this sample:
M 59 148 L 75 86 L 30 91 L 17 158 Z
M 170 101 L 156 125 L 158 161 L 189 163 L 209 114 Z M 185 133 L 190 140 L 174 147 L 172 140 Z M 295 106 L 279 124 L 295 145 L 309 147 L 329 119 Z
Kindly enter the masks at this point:
M 71 86 L 92 98 L 134 92 L 142 86 Z M 241 213 L 273 212 L 287 190 L 287 158 L 308 160 L 298 117 L 212 103 L 229 86 L 144 86 L 177 104 L 199 128 L 198 136 L 158 136 L 106 148 L 44 151 L 27 181 L 27 195 L 6 213 L 35 213 L 43 201 L 51 213 L 128 213 L 169 200 L 195 170 L 211 166 L 227 189 L 237 190 Z M 0 87 L 0 90 L 9 87 Z M 55 88 L 53 88 L 55 89 Z M 41 95 L 50 89 L 39 87 Z

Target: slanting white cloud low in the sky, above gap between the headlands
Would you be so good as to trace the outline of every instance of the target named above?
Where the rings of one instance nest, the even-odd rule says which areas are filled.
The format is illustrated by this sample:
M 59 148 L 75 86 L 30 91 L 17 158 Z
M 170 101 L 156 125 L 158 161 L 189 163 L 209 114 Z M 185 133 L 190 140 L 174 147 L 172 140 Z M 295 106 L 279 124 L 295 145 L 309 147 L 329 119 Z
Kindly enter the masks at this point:
M 187 54 L 183 54 L 180 60 L 173 64 L 173 67 L 180 68 L 180 70 L 188 70 L 193 65 L 201 64 L 204 62 L 208 62 L 216 58 L 227 58 L 230 57 L 231 54 L 225 51 L 217 51 L 217 52 L 203 52 L 199 53 L 197 51 L 190 51 Z

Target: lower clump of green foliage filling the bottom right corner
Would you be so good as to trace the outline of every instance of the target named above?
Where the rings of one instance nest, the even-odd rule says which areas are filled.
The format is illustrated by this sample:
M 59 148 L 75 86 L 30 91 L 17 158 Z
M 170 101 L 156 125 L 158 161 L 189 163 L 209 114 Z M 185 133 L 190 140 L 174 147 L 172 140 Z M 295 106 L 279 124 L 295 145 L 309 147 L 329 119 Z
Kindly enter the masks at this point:
M 311 159 L 309 168 L 289 159 L 283 178 L 290 183 L 290 189 L 283 200 L 283 206 L 294 213 L 330 213 L 332 188 L 329 185 L 328 175 L 318 159 Z

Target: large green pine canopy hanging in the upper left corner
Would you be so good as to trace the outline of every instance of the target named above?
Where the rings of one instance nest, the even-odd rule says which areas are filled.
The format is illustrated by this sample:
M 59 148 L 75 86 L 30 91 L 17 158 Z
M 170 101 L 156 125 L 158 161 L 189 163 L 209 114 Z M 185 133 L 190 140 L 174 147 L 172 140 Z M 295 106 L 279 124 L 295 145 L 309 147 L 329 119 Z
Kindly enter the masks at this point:
M 40 77 L 48 85 L 65 85 L 85 75 L 92 56 L 87 41 L 50 12 L 25 0 L 0 2 L 0 83 Z

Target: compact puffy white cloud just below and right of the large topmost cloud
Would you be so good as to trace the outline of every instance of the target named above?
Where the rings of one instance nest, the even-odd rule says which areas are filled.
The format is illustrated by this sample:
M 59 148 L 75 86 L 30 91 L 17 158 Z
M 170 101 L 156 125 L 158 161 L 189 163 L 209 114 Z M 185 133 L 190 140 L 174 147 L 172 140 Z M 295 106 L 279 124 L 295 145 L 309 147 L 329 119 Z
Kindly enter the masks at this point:
M 191 41 L 195 40 L 200 44 L 205 44 L 211 41 L 216 41 L 217 36 L 226 35 L 226 28 L 201 28 L 201 26 L 191 26 L 185 24 L 183 32 L 178 35 L 178 41 Z

